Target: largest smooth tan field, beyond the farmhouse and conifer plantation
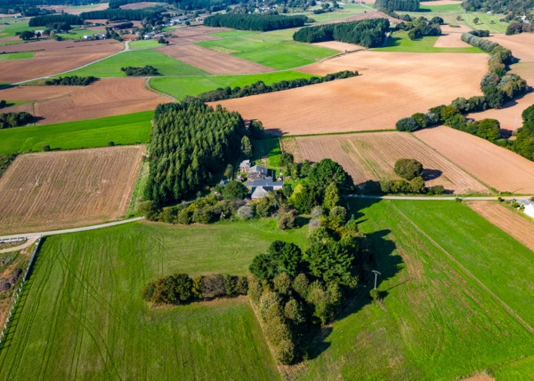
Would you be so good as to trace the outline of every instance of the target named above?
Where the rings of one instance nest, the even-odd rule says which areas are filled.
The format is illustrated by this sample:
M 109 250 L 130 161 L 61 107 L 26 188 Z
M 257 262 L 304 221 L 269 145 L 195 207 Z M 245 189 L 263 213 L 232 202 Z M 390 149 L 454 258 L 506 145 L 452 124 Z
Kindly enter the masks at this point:
M 487 61 L 486 54 L 355 52 L 298 70 L 360 76 L 219 103 L 280 135 L 393 130 L 404 116 L 481 94 Z

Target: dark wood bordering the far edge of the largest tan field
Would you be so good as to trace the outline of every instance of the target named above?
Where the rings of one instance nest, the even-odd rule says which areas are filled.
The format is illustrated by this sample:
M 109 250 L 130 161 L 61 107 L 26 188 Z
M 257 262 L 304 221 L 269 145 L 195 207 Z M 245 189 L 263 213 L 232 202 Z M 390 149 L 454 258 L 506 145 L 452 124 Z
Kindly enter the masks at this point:
M 389 30 L 389 26 L 389 20 L 387 19 L 339 22 L 302 28 L 295 32 L 293 39 L 300 43 L 308 44 L 341 41 L 371 48 L 383 44 L 385 33 Z

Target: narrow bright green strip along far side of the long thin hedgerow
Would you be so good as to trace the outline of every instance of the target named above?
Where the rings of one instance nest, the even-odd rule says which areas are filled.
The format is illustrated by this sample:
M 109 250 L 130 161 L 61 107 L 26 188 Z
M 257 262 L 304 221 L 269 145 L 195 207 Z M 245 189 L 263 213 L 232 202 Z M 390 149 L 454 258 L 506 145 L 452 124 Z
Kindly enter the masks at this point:
M 219 87 L 243 87 L 257 81 L 271 84 L 296 78 L 310 78 L 311 76 L 313 75 L 296 71 L 282 71 L 251 75 L 154 77 L 150 79 L 150 86 L 158 91 L 170 94 L 176 99 L 184 99 L 188 95 L 196 96 L 201 92 L 216 90 Z

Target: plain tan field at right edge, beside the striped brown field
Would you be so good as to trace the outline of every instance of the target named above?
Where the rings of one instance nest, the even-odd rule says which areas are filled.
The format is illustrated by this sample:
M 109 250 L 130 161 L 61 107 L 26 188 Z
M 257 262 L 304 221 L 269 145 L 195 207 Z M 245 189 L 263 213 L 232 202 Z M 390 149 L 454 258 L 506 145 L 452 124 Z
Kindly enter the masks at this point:
M 500 192 L 534 194 L 534 163 L 506 148 L 444 126 L 417 131 L 415 135 Z

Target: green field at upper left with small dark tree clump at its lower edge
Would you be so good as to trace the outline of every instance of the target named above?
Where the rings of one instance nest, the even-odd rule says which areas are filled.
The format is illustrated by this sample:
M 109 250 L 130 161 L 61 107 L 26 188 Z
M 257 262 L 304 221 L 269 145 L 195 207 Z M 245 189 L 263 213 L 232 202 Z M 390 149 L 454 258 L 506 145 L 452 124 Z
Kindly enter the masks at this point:
M 106 76 L 126 76 L 121 67 L 144 67 L 151 65 L 156 67 L 161 75 L 205 75 L 206 72 L 197 67 L 184 64 L 179 60 L 174 60 L 163 53 L 150 49 L 124 52 L 101 60 L 88 67 L 80 68 L 70 72 L 69 75 L 87 76 L 94 75 L 97 77 Z

